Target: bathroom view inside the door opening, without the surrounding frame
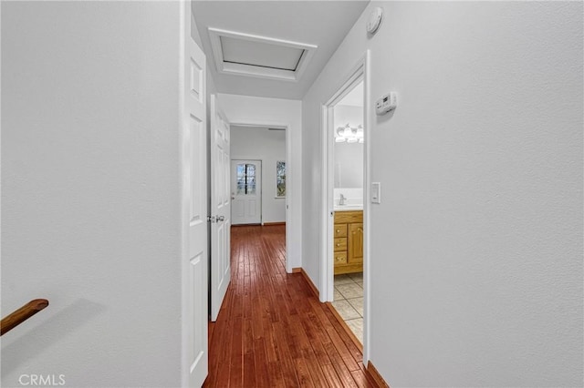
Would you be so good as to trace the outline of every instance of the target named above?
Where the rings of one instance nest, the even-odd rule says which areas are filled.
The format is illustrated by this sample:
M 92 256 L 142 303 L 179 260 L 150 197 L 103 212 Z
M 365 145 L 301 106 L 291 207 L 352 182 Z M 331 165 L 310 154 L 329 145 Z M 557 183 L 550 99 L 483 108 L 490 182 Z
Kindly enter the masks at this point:
M 363 81 L 333 107 L 333 300 L 363 342 Z

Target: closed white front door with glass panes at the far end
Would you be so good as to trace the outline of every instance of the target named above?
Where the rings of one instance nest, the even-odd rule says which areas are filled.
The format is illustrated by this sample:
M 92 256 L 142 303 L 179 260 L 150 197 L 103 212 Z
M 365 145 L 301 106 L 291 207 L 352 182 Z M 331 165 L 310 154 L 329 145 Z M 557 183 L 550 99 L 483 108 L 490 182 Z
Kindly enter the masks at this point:
M 231 199 L 234 225 L 262 222 L 261 160 L 231 161 Z

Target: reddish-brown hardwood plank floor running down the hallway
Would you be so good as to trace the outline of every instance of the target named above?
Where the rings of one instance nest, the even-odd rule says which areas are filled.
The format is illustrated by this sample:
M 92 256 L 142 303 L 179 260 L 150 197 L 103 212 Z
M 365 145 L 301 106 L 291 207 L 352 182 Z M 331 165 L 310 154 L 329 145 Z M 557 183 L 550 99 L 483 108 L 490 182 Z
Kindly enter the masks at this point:
M 300 273 L 285 227 L 231 231 L 231 284 L 209 325 L 205 387 L 377 387 L 360 350 Z

